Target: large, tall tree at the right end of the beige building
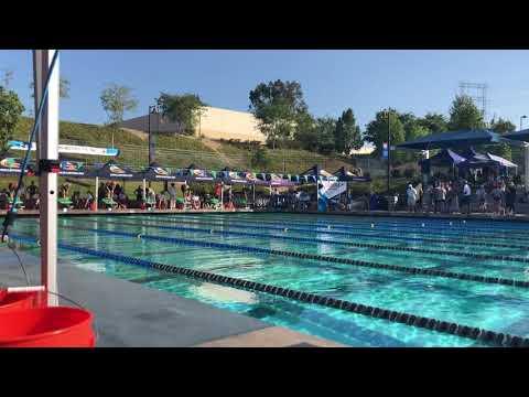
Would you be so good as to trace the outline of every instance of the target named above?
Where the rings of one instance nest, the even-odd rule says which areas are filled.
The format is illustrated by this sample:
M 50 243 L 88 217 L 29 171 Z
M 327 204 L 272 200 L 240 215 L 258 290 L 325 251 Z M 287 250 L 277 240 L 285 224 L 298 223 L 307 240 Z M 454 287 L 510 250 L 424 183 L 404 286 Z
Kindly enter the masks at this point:
M 307 110 L 298 82 L 260 83 L 250 90 L 249 99 L 259 130 L 274 149 L 278 141 L 293 138 L 298 118 Z

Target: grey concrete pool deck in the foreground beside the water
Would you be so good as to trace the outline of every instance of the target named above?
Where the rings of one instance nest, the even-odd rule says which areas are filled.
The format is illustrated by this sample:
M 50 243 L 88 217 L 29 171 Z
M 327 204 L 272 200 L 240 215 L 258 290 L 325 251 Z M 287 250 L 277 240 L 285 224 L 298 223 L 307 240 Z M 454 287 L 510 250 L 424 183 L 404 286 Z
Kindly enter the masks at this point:
M 18 251 L 31 280 L 39 258 Z M 24 286 L 14 254 L 0 247 L 0 286 Z M 337 343 L 60 260 L 58 290 L 96 318 L 98 347 L 337 347 Z M 60 299 L 60 303 L 72 305 Z

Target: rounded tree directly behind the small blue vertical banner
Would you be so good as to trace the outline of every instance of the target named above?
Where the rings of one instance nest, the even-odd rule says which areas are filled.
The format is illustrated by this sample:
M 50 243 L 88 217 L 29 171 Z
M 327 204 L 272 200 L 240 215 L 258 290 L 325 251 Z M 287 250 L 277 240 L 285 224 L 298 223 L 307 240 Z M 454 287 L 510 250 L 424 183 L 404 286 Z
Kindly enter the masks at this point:
M 382 143 L 388 141 L 388 111 L 391 144 L 402 143 L 406 132 L 399 114 L 395 109 L 384 109 L 377 112 L 375 120 L 367 125 L 364 140 L 375 144 L 375 154 L 381 155 Z

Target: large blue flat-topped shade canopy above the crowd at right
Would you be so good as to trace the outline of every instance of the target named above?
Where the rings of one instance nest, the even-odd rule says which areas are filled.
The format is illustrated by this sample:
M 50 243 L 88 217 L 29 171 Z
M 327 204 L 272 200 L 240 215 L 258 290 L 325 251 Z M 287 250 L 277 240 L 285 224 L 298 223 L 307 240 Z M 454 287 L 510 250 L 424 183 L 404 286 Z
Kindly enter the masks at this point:
M 465 148 L 474 144 L 508 143 L 519 146 L 514 141 L 487 129 L 460 130 L 450 132 L 438 132 L 421 137 L 404 143 L 397 144 L 399 149 L 430 150 Z

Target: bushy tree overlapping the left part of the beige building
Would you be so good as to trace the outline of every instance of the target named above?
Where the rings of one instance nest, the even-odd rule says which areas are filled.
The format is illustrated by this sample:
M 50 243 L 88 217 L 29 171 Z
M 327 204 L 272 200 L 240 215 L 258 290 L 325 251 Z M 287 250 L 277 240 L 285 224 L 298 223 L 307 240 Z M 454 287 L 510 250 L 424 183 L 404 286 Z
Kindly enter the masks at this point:
M 161 93 L 158 105 L 162 109 L 162 116 L 176 124 L 177 133 L 193 135 L 204 112 L 204 104 L 198 95 L 182 94 L 171 95 Z

